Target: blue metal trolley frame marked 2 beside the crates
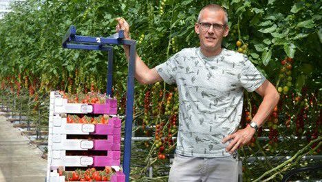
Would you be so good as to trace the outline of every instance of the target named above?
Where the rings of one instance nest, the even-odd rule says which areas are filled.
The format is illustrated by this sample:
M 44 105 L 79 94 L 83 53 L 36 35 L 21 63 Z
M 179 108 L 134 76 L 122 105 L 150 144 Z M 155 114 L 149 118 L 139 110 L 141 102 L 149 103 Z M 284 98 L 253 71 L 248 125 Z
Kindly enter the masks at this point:
M 136 65 L 136 41 L 125 40 L 124 32 L 122 30 L 109 37 L 87 37 L 76 35 L 75 26 L 70 26 L 65 34 L 65 37 L 63 37 L 63 48 L 78 50 L 101 50 L 108 52 L 106 91 L 107 94 L 112 97 L 113 47 L 108 45 L 129 45 L 130 48 L 127 75 L 127 105 L 125 112 L 125 148 L 123 154 L 123 172 L 125 174 L 125 181 L 129 182 L 134 100 L 134 68 Z

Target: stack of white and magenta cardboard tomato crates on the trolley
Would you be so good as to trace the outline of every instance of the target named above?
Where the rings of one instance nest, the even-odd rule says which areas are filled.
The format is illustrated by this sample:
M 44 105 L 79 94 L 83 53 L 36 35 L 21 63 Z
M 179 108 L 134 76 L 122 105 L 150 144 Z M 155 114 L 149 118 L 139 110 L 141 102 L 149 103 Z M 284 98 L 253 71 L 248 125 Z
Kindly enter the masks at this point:
M 111 114 L 107 124 L 67 123 L 67 114 Z M 59 92 L 50 93 L 47 182 L 65 181 L 58 168 L 111 166 L 116 174 L 111 181 L 125 181 L 120 171 L 121 120 L 116 117 L 116 99 L 105 104 L 68 103 Z M 69 139 L 71 135 L 100 135 L 106 139 Z M 104 137 L 105 138 L 105 137 Z M 85 151 L 87 155 L 66 155 L 68 151 Z M 95 155 L 98 151 L 107 155 Z M 91 152 L 93 154 L 91 154 Z

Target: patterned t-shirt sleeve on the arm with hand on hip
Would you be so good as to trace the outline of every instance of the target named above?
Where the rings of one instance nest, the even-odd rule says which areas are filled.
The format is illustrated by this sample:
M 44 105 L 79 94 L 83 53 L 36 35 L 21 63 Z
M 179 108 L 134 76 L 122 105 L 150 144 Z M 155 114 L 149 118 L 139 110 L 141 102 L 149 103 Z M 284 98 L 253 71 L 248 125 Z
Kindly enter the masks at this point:
M 266 78 L 247 57 L 244 57 L 242 67 L 240 75 L 241 86 L 245 88 L 247 92 L 253 92 L 264 83 Z

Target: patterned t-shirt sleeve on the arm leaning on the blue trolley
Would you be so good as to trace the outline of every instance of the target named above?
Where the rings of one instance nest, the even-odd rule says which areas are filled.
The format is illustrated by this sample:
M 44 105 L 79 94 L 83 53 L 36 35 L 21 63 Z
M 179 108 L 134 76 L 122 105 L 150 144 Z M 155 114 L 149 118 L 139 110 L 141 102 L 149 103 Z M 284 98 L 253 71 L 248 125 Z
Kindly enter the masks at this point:
M 160 74 L 160 77 L 168 84 L 175 83 L 175 68 L 177 60 L 178 53 L 173 55 L 168 61 L 161 63 L 160 65 L 155 66 L 155 69 L 157 70 L 158 74 Z

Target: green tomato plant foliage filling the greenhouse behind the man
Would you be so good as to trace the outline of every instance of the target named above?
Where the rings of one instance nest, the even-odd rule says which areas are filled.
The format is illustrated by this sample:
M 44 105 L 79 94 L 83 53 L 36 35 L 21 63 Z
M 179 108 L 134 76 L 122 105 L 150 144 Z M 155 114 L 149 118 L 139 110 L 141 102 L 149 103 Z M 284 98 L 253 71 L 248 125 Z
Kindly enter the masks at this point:
M 267 130 L 264 130 L 263 136 L 269 136 L 269 139 L 256 140 L 253 143 L 257 145 L 244 147 L 245 150 L 240 151 L 244 156 L 246 181 L 257 179 L 265 171 L 281 163 L 266 158 L 264 163 L 257 161 L 248 165 L 246 159 L 249 156 L 265 155 L 264 151 L 270 156 L 294 156 L 311 139 L 316 138 L 320 139 L 319 145 L 314 149 L 316 143 L 314 147 L 311 143 L 310 154 L 318 154 L 317 152 L 321 154 L 319 151 L 321 137 L 318 138 L 321 136 L 321 1 L 17 2 L 12 5 L 13 11 L 0 20 L 1 88 L 8 88 L 12 93 L 28 90 L 32 98 L 44 94 L 44 101 L 48 98 L 47 93 L 50 90 L 79 93 L 86 92 L 91 85 L 94 85 L 96 90 L 105 92 L 107 54 L 85 50 L 63 50 L 61 39 L 69 26 L 76 26 L 77 34 L 107 37 L 115 33 L 114 19 L 124 17 L 131 24 L 131 38 L 138 40 L 138 54 L 150 68 L 153 68 L 182 48 L 199 46 L 199 39 L 193 26 L 199 11 L 209 3 L 218 3 L 227 9 L 230 34 L 224 40 L 224 47 L 237 50 L 236 41 L 241 41 L 243 45 L 240 51 L 249 57 L 266 78 L 277 88 L 288 87 L 288 91 L 281 91 L 281 103 L 275 117 L 278 121 L 272 119 L 272 122 L 268 122 L 270 125 L 264 126 Z M 114 92 L 120 104 L 123 100 L 124 105 L 127 61 L 121 47 L 115 47 L 114 52 Z M 292 58 L 292 62 L 288 63 L 292 66 L 291 69 L 281 64 L 287 57 Z M 146 97 L 147 92 L 151 92 L 151 98 Z M 158 110 L 160 107 L 172 110 L 171 108 L 178 105 L 178 101 L 170 99 L 171 104 L 167 106 L 166 100 L 170 92 L 176 93 L 175 88 L 163 83 L 136 84 L 135 122 L 136 125 L 142 125 L 141 129 L 136 130 L 137 135 L 155 137 L 154 125 L 162 122 L 169 125 L 167 121 L 176 114 L 175 111 L 164 114 L 162 111 L 153 112 L 153 110 Z M 160 98 L 155 97 L 158 94 Z M 246 94 L 244 103 L 245 112 L 250 114 L 244 114 L 241 126 L 247 123 L 247 117 L 251 118 L 254 114 L 260 99 L 256 94 Z M 122 110 L 124 111 L 124 108 L 121 108 L 121 112 Z M 173 128 L 173 125 L 170 128 Z M 169 133 L 167 130 L 162 132 L 164 136 L 176 133 Z M 283 141 L 272 142 L 277 136 L 281 136 Z M 300 138 L 305 136 L 305 139 L 297 140 L 292 136 Z M 294 144 L 290 145 L 290 142 Z M 168 155 L 173 152 L 173 148 L 167 147 L 166 152 L 162 152 L 167 154 L 166 160 L 156 160 L 160 149 L 155 147 L 155 142 L 136 145 L 147 153 L 143 152 L 146 156 L 138 154 L 138 161 L 133 161 L 136 156 L 132 157 L 133 179 L 151 180 L 140 173 L 150 165 L 157 169 L 164 168 L 165 171 L 168 169 Z M 307 152 L 302 151 L 301 154 L 308 154 Z M 283 172 L 298 167 L 299 163 L 294 163 L 288 168 L 288 165 L 284 165 L 282 169 L 285 170 L 279 172 L 272 170 L 269 174 L 273 180 L 279 181 Z M 257 170 L 252 170 L 254 168 Z M 156 180 L 167 179 L 162 170 L 160 173 L 156 171 L 153 176 L 157 178 Z M 270 175 L 265 177 L 269 178 Z

